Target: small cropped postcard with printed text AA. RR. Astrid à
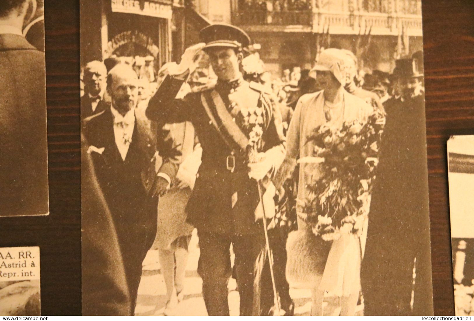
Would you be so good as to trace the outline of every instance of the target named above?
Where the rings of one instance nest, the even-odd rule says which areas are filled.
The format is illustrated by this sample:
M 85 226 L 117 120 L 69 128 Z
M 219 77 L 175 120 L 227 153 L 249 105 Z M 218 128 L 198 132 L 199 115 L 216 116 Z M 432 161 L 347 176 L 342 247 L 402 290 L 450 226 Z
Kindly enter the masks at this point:
M 0 315 L 41 315 L 39 247 L 0 248 Z

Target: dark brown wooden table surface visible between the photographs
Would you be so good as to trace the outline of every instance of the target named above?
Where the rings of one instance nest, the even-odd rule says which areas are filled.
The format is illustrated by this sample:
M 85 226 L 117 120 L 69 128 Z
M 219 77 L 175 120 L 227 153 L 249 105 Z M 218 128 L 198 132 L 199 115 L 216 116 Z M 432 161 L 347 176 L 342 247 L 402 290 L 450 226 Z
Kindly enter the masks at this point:
M 46 0 L 48 217 L 0 219 L 0 247 L 41 248 L 45 315 L 81 313 L 79 0 Z M 423 0 L 435 315 L 453 315 L 446 141 L 474 134 L 474 0 Z M 99 31 L 98 31 L 99 32 Z

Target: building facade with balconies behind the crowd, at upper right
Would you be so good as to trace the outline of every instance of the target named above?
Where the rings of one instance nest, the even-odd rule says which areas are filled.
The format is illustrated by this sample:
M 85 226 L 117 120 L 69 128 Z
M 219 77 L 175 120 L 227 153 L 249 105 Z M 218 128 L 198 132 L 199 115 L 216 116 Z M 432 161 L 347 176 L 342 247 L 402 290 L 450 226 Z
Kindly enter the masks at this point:
M 392 71 L 422 50 L 421 0 L 194 0 L 214 23 L 243 28 L 274 75 L 310 68 L 320 50 L 353 51 L 366 71 Z

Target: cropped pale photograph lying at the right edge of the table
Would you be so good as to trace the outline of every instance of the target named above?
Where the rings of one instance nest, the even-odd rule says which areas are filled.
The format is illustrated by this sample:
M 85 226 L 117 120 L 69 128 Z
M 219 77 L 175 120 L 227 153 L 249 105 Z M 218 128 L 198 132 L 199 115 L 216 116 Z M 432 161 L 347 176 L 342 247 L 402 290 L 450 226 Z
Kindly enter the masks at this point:
M 456 315 L 474 315 L 474 135 L 447 142 Z

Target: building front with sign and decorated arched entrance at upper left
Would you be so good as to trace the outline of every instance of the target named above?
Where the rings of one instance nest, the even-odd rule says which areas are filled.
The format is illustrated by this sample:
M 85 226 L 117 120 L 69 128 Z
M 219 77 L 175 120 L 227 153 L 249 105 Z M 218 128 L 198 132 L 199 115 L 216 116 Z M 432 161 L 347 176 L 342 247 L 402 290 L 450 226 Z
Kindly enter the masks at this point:
M 81 64 L 147 57 L 155 69 L 181 56 L 183 0 L 81 0 Z

